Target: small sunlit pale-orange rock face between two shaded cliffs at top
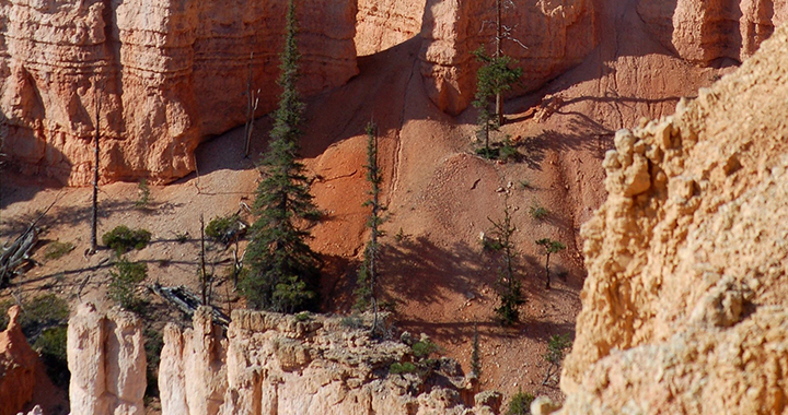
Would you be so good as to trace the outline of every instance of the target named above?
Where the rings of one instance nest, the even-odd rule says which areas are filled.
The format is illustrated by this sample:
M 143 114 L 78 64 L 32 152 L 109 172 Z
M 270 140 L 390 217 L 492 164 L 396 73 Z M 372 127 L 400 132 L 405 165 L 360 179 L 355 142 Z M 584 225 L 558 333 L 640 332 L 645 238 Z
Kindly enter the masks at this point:
M 372 55 L 418 36 L 425 1 L 359 0 L 356 17 L 358 55 Z

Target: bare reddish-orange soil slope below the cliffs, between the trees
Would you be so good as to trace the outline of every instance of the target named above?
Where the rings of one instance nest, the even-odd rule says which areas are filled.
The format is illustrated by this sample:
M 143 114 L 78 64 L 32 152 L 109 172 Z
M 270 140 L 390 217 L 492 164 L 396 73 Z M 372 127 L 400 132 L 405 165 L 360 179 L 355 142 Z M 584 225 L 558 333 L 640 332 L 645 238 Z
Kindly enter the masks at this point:
M 634 10 L 602 10 L 614 27 L 578 68 L 542 91 L 507 103 L 509 134 L 523 155 L 520 163 L 498 164 L 473 153 L 475 111 L 456 118 L 440 112 L 426 97 L 418 71 L 418 38 L 360 58 L 361 73 L 347 85 L 312 97 L 303 154 L 314 177 L 312 191 L 326 220 L 312 229 L 312 247 L 326 260 L 322 300 L 327 312 L 349 312 L 356 268 L 368 237 L 368 198 L 363 164 L 364 126 L 374 120 L 380 133 L 380 163 L 385 173 L 382 285 L 384 300 L 396 310 L 398 327 L 427 333 L 448 356 L 470 370 L 474 330 L 478 330 L 483 388 L 511 395 L 519 389 L 560 400 L 555 379 L 542 384 L 547 340 L 573 333 L 580 308 L 584 269 L 578 230 L 604 198 L 601 159 L 616 129 L 641 117 L 670 112 L 679 97 L 711 82 L 712 70 L 688 66 L 661 50 L 638 26 Z M 617 36 L 616 33 L 627 33 Z M 605 37 L 607 36 L 607 37 Z M 258 119 L 253 154 L 265 150 L 268 117 Z M 129 258 L 144 261 L 147 283 L 186 285 L 198 292 L 199 217 L 240 213 L 252 221 L 246 205 L 259 178 L 255 157 L 243 157 L 242 129 L 204 143 L 199 174 L 175 183 L 151 187 L 151 202 L 139 209 L 136 183 L 101 187 L 100 235 L 124 224 L 143 227 L 151 245 Z M 105 299 L 112 253 L 89 257 L 91 190 L 66 189 L 36 178 L 3 171 L 0 187 L 0 238 L 18 235 L 57 199 L 42 221 L 47 240 L 69 241 L 77 249 L 57 260 L 39 262 L 0 292 L 32 297 L 55 292 L 77 301 Z M 480 233 L 490 220 L 512 209 L 514 240 L 520 252 L 517 271 L 526 304 L 522 322 L 501 328 L 497 262 L 482 249 Z M 543 208 L 547 214 L 535 217 Z M 551 258 L 555 275 L 544 287 L 544 260 L 535 240 L 551 238 L 567 249 Z M 245 246 L 242 242 L 239 253 Z M 215 305 L 229 310 L 243 301 L 232 290 L 231 246 L 210 244 L 209 271 L 218 275 Z M 157 298 L 159 320 L 178 319 Z

